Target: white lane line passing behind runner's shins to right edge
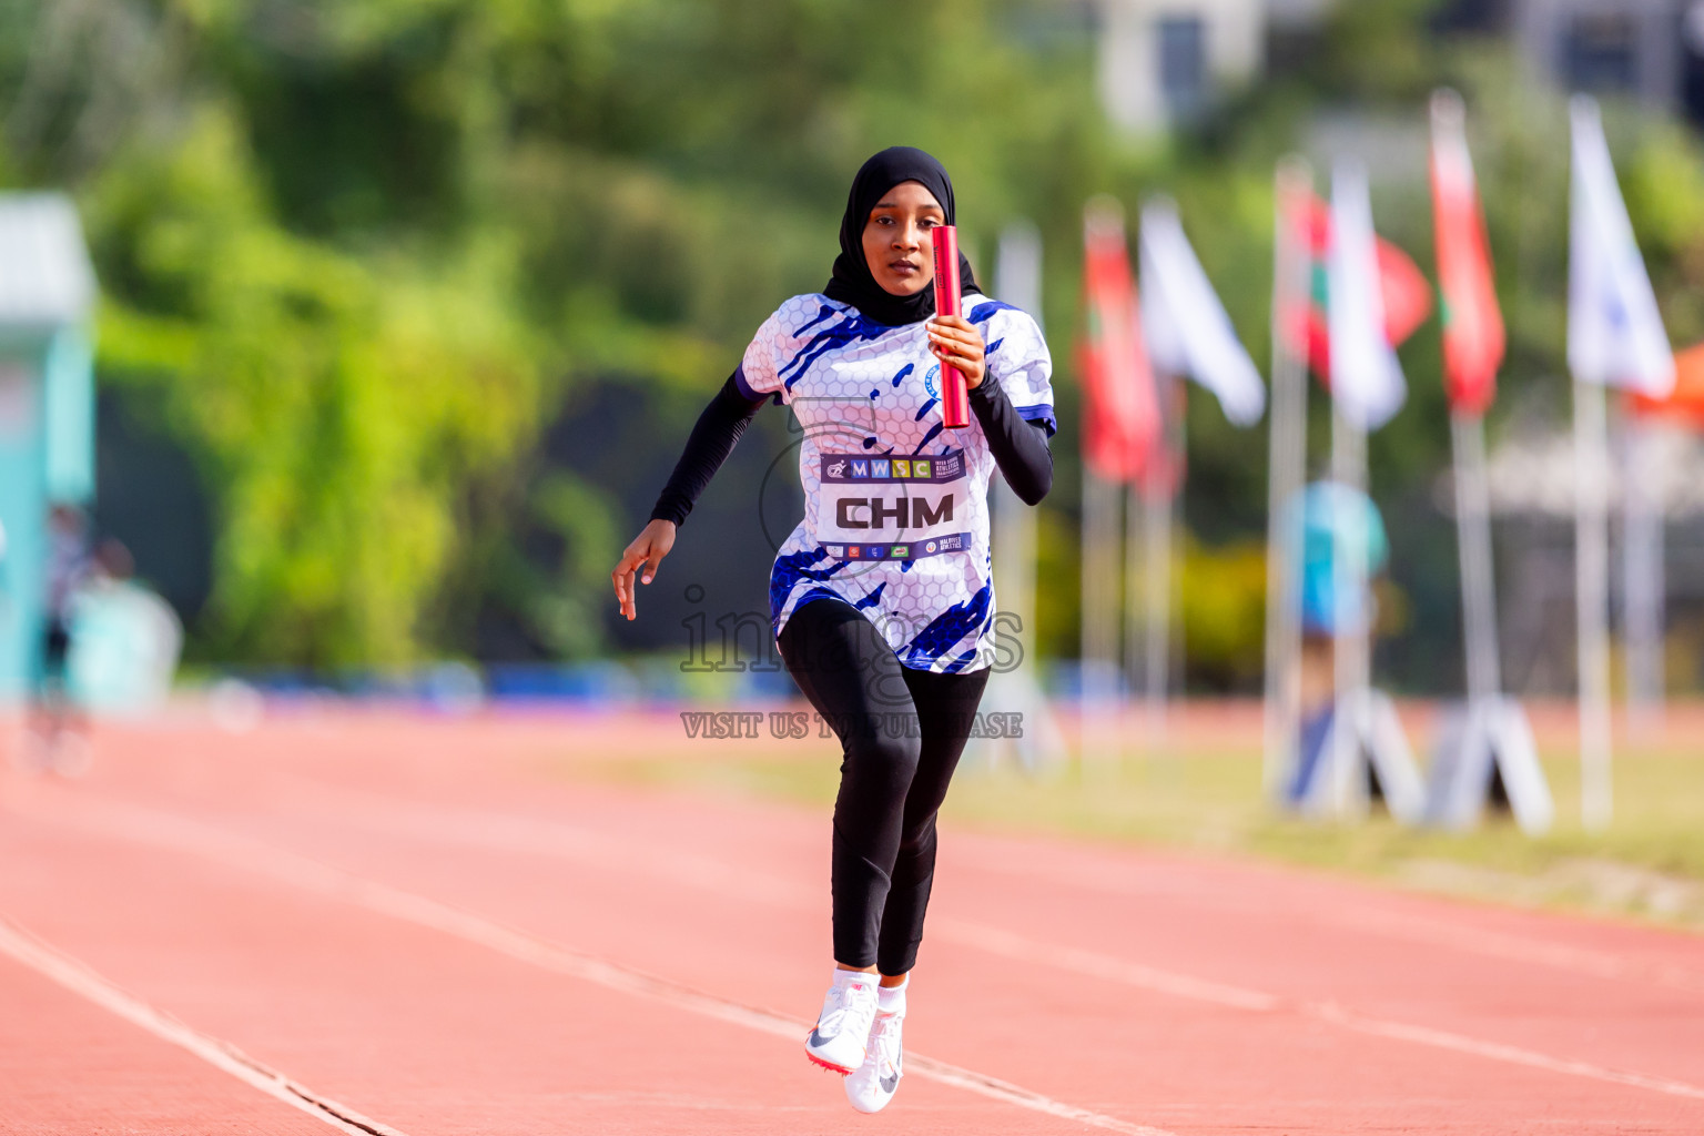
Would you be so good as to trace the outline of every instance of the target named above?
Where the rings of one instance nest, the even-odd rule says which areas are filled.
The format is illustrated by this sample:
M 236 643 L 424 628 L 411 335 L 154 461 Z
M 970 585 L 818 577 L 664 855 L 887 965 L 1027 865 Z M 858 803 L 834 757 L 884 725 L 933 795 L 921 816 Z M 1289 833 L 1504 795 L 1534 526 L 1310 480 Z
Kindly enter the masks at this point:
M 414 816 L 406 818 L 402 816 L 399 802 L 389 797 L 329 787 L 324 794 L 325 797 L 356 797 L 370 806 L 349 811 L 322 809 L 322 814 L 337 811 L 368 831 L 389 831 L 392 835 L 407 835 L 428 841 L 455 841 L 469 846 L 486 846 L 516 853 L 552 855 L 603 869 L 620 865 L 629 870 L 646 872 L 656 879 L 700 887 L 750 903 L 772 903 L 792 908 L 799 904 L 811 904 L 813 899 L 813 892 L 806 892 L 806 889 L 779 877 L 736 869 L 731 863 L 699 853 L 671 852 L 654 846 L 624 846 L 617 850 L 610 836 L 559 821 L 509 818 L 506 814 L 452 812 L 429 806 L 411 806 L 409 811 L 414 812 Z M 811 909 L 815 909 L 815 904 L 811 904 Z M 1520 1064 L 1532 1070 L 1546 1070 L 1549 1073 L 1561 1073 L 1566 1076 L 1583 1076 L 1614 1085 L 1629 1085 L 1673 1097 L 1704 1099 L 1704 1088 L 1678 1080 L 1614 1070 L 1588 1061 L 1552 1058 L 1532 1049 L 1482 1041 L 1428 1025 L 1411 1025 L 1406 1022 L 1361 1017 L 1338 1007 L 1336 1003 L 1302 1001 L 1244 986 L 1215 983 L 1191 974 L 1162 971 L 1159 967 L 1143 966 L 1116 955 L 1038 942 L 1002 928 L 956 920 L 953 916 L 934 916 L 929 927 L 932 935 L 949 938 L 961 947 L 983 950 L 1014 962 L 1053 967 L 1152 993 L 1252 1013 L 1295 1012 L 1358 1034 L 1404 1041 L 1416 1046 L 1430 1046 L 1433 1049 L 1447 1049 L 1459 1054 Z

